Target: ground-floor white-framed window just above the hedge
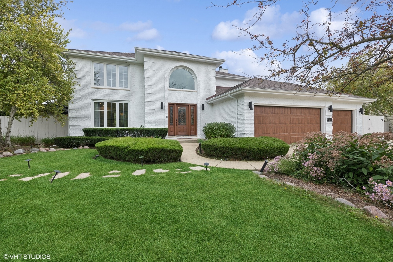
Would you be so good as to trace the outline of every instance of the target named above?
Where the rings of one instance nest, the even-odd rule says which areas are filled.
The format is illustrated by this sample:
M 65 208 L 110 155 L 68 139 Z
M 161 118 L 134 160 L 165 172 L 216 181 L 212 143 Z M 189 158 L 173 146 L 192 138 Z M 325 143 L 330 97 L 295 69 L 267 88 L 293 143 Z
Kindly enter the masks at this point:
M 94 101 L 94 127 L 129 127 L 129 103 Z

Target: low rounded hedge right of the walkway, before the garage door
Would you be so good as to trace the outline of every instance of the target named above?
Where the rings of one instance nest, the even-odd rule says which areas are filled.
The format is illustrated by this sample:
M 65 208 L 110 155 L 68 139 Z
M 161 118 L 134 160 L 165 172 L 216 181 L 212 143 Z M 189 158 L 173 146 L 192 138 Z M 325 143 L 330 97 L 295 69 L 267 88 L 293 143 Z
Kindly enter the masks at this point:
M 263 160 L 288 153 L 289 145 L 275 137 L 217 137 L 202 142 L 206 156 L 236 160 Z

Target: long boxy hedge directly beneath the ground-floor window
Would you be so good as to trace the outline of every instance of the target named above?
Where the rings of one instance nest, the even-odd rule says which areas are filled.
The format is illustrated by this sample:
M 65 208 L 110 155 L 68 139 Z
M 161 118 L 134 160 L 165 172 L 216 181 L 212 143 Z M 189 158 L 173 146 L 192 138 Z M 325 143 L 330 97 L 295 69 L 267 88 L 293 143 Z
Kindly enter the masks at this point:
M 90 127 L 82 129 L 85 136 L 112 136 L 112 137 L 161 137 L 165 138 L 168 128 L 144 127 Z

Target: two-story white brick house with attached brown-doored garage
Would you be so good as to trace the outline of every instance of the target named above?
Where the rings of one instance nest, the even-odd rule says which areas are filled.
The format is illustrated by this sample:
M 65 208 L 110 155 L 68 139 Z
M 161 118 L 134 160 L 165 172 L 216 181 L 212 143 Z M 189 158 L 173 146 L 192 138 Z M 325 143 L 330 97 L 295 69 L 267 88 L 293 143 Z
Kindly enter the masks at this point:
M 229 74 L 220 67 L 222 59 L 174 51 L 65 53 L 75 62 L 79 84 L 68 109 L 70 136 L 83 135 L 86 127 L 143 125 L 168 127 L 169 137 L 204 137 L 206 123 L 225 121 L 239 137 L 276 136 L 292 143 L 309 131 L 362 133 L 359 110 L 374 101 L 299 92 L 296 85 Z

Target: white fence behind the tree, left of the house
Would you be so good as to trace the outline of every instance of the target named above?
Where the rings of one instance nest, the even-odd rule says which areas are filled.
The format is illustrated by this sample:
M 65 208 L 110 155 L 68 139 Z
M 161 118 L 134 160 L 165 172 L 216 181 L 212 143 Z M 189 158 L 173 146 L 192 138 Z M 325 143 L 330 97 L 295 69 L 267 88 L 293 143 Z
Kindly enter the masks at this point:
M 5 134 L 8 125 L 8 117 L 0 116 L 0 119 L 2 133 Z M 20 122 L 14 119 L 11 135 L 31 135 L 39 139 L 45 137 L 67 136 L 68 119 L 64 126 L 61 126 L 61 124 L 57 123 L 53 118 L 48 118 L 48 120 L 46 120 L 45 118 L 40 117 L 36 122 L 33 122 L 32 126 L 30 126 L 30 119 L 22 118 L 20 119 Z

